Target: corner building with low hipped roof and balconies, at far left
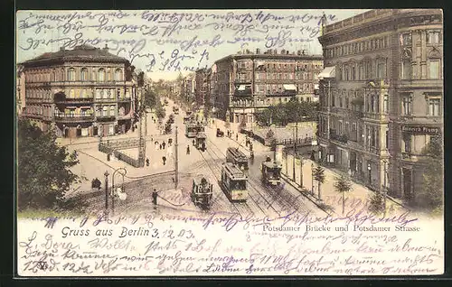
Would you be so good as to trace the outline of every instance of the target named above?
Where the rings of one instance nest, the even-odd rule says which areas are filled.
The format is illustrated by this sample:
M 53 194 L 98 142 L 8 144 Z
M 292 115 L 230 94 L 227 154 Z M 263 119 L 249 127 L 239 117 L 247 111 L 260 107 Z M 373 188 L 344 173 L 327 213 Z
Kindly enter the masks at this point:
M 88 45 L 47 52 L 24 65 L 23 116 L 64 137 L 126 133 L 134 118 L 133 66 Z

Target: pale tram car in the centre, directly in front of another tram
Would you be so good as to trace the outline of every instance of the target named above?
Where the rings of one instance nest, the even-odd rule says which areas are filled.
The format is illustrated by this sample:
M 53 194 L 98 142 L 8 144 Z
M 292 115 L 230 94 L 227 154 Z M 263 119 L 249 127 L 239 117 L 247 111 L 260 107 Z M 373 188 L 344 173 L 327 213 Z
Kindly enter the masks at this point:
M 221 190 L 231 202 L 244 202 L 248 199 L 247 176 L 232 162 L 221 166 Z

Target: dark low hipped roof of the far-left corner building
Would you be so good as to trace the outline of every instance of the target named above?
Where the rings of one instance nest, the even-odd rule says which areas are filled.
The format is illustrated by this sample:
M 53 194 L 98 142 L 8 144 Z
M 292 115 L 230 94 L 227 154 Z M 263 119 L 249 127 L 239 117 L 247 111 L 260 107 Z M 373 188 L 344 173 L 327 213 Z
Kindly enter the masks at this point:
M 73 50 L 65 50 L 64 48 L 61 48 L 60 51 L 45 52 L 41 56 L 33 58 L 32 60 L 25 60 L 23 64 L 32 65 L 54 60 L 95 61 L 95 62 L 108 61 L 124 63 L 128 61 L 126 58 L 122 58 L 108 52 L 107 47 L 99 49 L 89 45 L 80 45 L 74 47 Z

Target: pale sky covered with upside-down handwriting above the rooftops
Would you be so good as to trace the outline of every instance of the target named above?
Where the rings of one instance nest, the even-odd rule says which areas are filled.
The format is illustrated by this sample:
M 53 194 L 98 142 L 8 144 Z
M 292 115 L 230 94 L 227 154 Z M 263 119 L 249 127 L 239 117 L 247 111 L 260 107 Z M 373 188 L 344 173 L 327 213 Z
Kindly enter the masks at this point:
M 368 10 L 19 11 L 16 62 L 89 44 L 130 60 L 151 79 L 175 79 L 250 50 L 321 54 L 326 24 Z

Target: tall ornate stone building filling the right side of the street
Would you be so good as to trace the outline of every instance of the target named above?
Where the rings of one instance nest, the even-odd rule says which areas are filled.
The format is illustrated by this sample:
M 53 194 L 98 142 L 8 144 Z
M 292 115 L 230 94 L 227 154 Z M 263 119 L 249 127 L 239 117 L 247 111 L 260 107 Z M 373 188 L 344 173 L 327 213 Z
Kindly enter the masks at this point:
M 319 154 L 374 190 L 414 199 L 422 150 L 441 134 L 440 10 L 372 10 L 319 37 Z

